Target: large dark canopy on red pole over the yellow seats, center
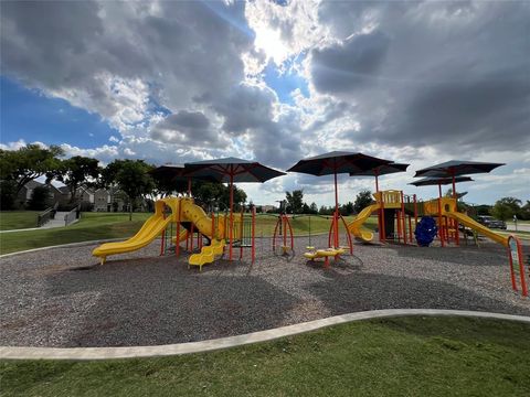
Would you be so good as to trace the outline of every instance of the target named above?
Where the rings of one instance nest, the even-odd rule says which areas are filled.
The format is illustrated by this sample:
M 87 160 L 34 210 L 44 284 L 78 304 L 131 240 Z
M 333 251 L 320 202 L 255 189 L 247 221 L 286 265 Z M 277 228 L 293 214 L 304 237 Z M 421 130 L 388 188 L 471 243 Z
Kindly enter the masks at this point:
M 369 171 L 379 165 L 390 164 L 391 162 L 390 160 L 379 159 L 363 153 L 332 151 L 303 159 L 287 171 L 322 176 Z

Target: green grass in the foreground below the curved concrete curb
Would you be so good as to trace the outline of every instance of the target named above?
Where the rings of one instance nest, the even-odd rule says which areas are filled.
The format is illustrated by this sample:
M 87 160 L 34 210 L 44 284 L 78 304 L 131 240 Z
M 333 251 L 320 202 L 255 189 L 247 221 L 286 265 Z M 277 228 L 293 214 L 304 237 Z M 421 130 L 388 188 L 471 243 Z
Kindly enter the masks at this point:
M 528 396 L 530 325 L 395 318 L 225 351 L 2 361 L 2 396 Z

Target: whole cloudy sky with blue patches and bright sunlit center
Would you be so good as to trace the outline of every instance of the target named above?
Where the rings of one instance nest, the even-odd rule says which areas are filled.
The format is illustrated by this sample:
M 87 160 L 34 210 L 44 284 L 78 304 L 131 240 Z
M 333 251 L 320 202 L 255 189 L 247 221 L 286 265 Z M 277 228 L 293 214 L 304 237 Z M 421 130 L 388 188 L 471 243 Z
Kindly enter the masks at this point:
M 528 2 L 0 2 L 0 148 L 286 170 L 332 150 L 411 163 L 506 162 L 463 185 L 530 200 Z M 448 34 L 451 32 L 451 34 Z M 301 96 L 295 100 L 293 93 Z M 340 179 L 341 201 L 371 179 Z M 331 179 L 245 186 L 255 203 Z

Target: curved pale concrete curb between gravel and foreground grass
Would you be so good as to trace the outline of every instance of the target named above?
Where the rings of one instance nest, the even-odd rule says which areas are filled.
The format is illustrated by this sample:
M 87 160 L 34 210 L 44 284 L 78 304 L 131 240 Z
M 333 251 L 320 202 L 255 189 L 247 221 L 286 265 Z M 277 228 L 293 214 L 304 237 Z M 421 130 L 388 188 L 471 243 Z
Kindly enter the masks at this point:
M 159 346 L 128 346 L 128 347 L 0 347 L 0 358 L 9 360 L 109 360 L 131 357 L 153 357 L 209 352 L 220 348 L 246 345 L 257 342 L 272 341 L 283 336 L 296 335 L 304 332 L 319 330 L 329 325 L 342 324 L 351 321 L 381 319 L 404 315 L 458 315 L 483 319 L 521 321 L 530 324 L 530 316 L 510 315 L 489 312 L 436 309 L 388 309 L 373 310 L 327 319 L 309 321 L 300 324 L 282 326 L 274 330 L 253 332 L 250 334 L 221 337 L 210 341 L 178 343 Z

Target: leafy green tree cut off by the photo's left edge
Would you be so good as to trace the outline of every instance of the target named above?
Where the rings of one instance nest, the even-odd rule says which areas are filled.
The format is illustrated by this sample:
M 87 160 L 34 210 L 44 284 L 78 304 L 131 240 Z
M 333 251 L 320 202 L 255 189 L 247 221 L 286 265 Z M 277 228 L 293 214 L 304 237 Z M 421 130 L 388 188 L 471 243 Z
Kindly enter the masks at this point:
M 26 144 L 19 150 L 0 150 L 0 180 L 15 183 L 17 195 L 28 182 L 56 172 L 63 154 L 63 149 L 53 144 L 47 149 Z

